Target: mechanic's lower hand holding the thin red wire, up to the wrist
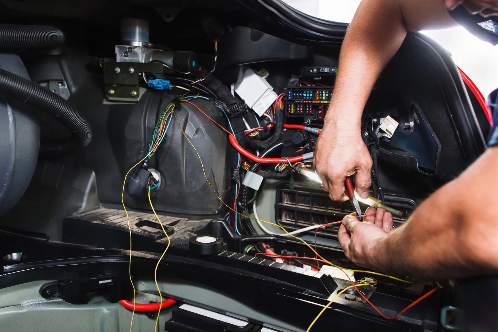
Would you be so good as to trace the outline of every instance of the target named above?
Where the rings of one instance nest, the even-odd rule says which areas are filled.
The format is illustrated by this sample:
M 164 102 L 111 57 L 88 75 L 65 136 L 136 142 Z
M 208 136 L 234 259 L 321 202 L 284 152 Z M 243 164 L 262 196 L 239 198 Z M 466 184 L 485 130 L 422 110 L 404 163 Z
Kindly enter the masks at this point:
M 339 243 L 348 257 L 355 264 L 372 267 L 375 256 L 375 244 L 387 236 L 392 230 L 392 215 L 384 209 L 368 208 L 364 221 L 355 216 L 346 216 L 339 228 Z

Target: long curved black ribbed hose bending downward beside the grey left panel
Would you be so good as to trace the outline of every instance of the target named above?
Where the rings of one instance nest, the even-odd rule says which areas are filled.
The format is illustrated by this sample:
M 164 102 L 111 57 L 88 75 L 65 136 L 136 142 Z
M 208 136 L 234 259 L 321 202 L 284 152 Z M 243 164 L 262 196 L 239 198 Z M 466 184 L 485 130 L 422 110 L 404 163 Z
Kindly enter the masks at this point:
M 72 137 L 40 146 L 40 155 L 57 156 L 83 148 L 92 140 L 87 119 L 64 98 L 6 70 L 0 69 L 0 95 L 38 108 L 55 117 L 72 133 Z

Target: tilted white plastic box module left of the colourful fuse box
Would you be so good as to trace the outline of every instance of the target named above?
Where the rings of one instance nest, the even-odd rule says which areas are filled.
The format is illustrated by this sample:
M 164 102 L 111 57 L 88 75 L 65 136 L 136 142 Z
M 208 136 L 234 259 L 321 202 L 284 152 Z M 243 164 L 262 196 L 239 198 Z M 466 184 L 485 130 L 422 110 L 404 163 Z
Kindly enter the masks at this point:
M 236 83 L 234 88 L 235 92 L 259 116 L 262 116 L 278 97 L 271 85 L 252 69 L 246 70 L 244 78 Z

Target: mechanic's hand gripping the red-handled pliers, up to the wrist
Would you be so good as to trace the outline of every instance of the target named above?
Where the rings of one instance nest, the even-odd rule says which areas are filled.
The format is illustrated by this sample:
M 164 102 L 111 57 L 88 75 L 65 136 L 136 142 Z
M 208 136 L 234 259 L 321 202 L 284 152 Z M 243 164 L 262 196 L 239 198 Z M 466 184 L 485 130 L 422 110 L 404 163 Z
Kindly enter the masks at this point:
M 331 119 L 333 120 L 333 119 Z M 313 164 L 322 179 L 323 189 L 334 201 L 344 200 L 344 181 L 356 172 L 356 192 L 368 197 L 372 157 L 359 130 L 337 121 L 324 125 L 315 147 Z

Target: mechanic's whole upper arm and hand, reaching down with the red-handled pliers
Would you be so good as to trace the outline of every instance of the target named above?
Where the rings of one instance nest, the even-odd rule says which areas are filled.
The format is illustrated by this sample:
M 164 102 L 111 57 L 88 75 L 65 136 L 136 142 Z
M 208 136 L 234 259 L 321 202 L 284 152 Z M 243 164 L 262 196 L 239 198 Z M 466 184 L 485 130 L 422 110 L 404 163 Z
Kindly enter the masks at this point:
M 334 92 L 313 159 L 333 200 L 343 197 L 344 180 L 355 172 L 356 191 L 368 196 L 372 159 L 361 137 L 361 116 L 373 84 L 406 32 L 453 24 L 443 0 L 360 3 L 341 47 Z

